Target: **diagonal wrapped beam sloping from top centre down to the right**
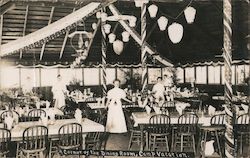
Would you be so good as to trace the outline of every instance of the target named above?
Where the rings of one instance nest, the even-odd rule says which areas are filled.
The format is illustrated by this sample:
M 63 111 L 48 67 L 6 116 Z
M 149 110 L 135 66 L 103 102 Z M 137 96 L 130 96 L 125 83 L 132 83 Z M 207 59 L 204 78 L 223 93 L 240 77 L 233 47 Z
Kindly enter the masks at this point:
M 118 11 L 118 9 L 113 5 L 113 4 L 110 4 L 109 5 L 109 9 L 111 11 L 111 13 L 113 15 L 119 15 L 120 12 Z M 122 27 L 128 31 L 131 35 L 131 37 L 139 44 L 141 45 L 142 41 L 141 41 L 141 36 L 138 34 L 138 32 L 134 29 L 134 28 L 131 28 L 127 22 L 125 22 L 124 20 L 119 20 L 120 24 L 122 25 Z M 154 50 L 147 42 L 146 42 L 146 51 L 150 54 L 150 55 L 154 55 L 154 58 L 156 60 L 158 60 L 159 62 L 161 62 L 162 64 L 164 64 L 165 66 L 173 66 L 173 64 L 171 62 L 169 62 L 168 60 L 166 59 L 163 59 L 160 54 Z

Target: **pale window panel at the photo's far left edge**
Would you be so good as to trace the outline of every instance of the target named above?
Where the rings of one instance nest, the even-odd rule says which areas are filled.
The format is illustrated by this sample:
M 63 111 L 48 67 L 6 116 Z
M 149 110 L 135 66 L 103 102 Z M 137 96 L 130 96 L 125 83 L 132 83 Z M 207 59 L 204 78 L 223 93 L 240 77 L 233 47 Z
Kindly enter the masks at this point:
M 2 88 L 17 88 L 19 87 L 19 68 L 16 67 L 1 67 L 1 86 Z

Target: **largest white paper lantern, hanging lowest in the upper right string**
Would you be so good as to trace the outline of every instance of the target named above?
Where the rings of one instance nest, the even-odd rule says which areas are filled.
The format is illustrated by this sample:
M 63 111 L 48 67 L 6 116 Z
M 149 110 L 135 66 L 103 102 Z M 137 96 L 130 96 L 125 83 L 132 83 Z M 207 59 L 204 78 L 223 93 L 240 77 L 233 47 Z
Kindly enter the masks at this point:
M 183 26 L 173 23 L 168 27 L 168 36 L 173 43 L 179 43 L 183 36 Z

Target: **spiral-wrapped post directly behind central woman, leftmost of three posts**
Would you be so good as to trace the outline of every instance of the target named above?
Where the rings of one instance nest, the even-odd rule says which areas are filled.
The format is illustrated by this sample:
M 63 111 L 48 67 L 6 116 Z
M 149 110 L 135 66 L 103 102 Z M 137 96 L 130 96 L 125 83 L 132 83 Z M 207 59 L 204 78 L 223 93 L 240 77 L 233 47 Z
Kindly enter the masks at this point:
M 105 9 L 102 10 L 105 12 Z M 104 30 L 104 25 L 106 24 L 105 21 L 101 23 L 101 32 L 102 32 L 102 93 L 103 96 L 107 95 L 107 74 L 106 74 L 106 66 L 107 66 L 107 43 L 106 43 L 106 33 Z

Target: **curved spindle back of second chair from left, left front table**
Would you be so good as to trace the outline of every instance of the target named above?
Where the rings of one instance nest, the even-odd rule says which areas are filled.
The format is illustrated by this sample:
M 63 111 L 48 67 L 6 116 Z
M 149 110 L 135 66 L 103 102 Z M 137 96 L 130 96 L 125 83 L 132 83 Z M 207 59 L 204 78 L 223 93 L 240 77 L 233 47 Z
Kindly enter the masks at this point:
M 48 145 L 48 128 L 41 125 L 31 126 L 23 132 L 23 151 L 44 151 Z

